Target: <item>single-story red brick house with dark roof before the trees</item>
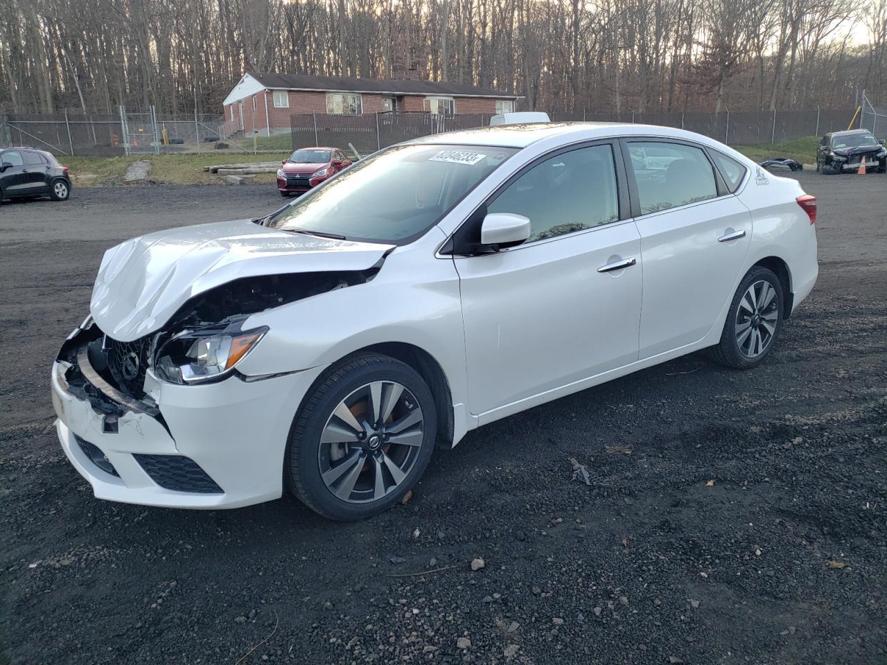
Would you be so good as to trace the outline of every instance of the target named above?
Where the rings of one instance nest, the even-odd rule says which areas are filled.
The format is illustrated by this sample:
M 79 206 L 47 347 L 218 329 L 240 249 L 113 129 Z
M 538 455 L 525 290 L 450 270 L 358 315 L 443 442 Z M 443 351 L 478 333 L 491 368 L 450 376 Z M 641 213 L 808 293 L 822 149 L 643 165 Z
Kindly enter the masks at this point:
M 258 130 L 286 133 L 293 113 L 363 115 L 416 113 L 508 113 L 519 95 L 467 83 L 356 79 L 307 74 L 243 75 L 224 99 L 227 134 Z

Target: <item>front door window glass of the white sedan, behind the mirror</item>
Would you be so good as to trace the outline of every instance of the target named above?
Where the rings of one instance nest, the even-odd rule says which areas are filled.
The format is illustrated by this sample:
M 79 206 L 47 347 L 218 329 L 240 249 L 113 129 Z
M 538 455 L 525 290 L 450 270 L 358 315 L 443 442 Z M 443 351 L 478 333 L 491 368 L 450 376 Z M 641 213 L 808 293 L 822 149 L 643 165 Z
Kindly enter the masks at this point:
M 528 242 L 616 222 L 618 211 L 609 145 L 578 148 L 541 161 L 487 206 L 488 213 L 530 217 Z

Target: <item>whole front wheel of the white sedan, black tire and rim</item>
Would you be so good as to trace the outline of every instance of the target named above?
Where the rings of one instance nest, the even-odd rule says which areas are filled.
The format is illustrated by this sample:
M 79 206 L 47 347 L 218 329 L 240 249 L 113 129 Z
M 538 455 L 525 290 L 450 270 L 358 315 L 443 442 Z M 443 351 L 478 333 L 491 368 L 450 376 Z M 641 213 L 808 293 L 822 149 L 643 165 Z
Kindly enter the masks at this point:
M 420 374 L 381 354 L 352 356 L 306 395 L 290 429 L 287 485 L 333 520 L 395 505 L 434 450 L 437 412 Z

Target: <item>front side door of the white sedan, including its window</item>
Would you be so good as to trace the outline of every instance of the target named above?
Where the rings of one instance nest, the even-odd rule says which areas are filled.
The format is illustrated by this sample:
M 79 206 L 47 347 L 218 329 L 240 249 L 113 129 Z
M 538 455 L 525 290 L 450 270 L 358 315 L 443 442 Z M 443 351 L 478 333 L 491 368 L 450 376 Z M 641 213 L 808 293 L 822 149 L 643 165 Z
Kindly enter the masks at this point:
M 591 145 L 538 162 L 488 204 L 529 217 L 531 232 L 454 260 L 472 413 L 637 360 L 640 235 L 617 190 L 613 145 Z

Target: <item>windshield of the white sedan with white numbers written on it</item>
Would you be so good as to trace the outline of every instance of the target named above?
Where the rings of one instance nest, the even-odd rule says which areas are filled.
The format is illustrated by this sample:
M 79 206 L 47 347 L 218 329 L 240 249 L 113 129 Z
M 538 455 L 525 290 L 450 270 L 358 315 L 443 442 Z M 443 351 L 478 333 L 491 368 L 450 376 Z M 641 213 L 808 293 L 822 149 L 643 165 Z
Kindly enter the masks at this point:
M 395 146 L 358 161 L 266 224 L 404 244 L 439 222 L 516 152 L 480 145 Z

